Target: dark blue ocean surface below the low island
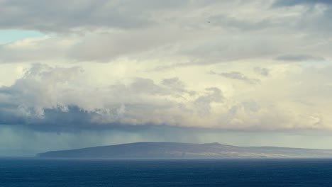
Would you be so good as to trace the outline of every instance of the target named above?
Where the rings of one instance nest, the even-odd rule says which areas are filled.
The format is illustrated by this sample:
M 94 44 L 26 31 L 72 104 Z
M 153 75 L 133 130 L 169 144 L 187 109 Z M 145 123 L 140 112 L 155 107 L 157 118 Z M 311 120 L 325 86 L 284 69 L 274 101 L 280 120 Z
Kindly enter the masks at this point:
M 0 186 L 332 186 L 332 159 L 0 158 Z

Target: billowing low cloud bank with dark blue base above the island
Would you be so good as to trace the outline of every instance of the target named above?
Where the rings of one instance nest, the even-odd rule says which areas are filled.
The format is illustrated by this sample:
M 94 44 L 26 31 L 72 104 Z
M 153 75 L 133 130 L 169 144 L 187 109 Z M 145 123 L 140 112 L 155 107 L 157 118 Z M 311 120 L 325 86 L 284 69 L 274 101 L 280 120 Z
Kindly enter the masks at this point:
M 280 72 L 284 66 L 287 71 Z M 251 79 L 224 73 L 220 76 L 233 81 L 210 86 L 199 79 L 201 86 L 189 87 L 178 77 L 133 77 L 96 86 L 82 67 L 34 64 L 13 85 L 0 88 L 0 124 L 51 132 L 164 125 L 248 131 L 331 128 L 326 112 L 331 67 L 290 67 L 269 67 L 269 76 L 255 89 L 250 84 L 238 89 L 233 81 Z

